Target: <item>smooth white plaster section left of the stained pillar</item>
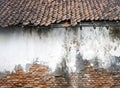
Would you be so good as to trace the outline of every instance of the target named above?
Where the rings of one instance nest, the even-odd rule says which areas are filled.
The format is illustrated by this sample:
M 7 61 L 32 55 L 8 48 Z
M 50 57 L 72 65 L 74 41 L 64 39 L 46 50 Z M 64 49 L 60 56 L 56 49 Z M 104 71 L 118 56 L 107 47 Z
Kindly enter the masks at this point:
M 36 58 L 54 68 L 64 54 L 62 29 L 41 34 L 41 37 L 35 31 L 32 34 L 23 31 L 8 32 L 0 34 L 0 70 L 13 70 L 17 64 L 25 67 L 26 63 L 32 63 Z

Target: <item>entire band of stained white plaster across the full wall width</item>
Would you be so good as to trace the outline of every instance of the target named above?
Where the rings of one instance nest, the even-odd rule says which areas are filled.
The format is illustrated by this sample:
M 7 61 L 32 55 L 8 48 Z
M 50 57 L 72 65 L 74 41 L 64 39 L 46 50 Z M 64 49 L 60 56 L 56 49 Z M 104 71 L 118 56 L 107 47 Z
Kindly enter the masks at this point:
M 85 65 L 120 71 L 119 28 L 80 27 L 30 31 L 16 27 L 0 30 L 0 70 L 32 63 L 38 58 L 52 71 L 65 59 L 69 71 L 80 71 Z M 116 34 L 114 34 L 116 33 Z M 87 63 L 86 63 L 87 62 Z M 76 68 L 77 67 L 77 68 Z

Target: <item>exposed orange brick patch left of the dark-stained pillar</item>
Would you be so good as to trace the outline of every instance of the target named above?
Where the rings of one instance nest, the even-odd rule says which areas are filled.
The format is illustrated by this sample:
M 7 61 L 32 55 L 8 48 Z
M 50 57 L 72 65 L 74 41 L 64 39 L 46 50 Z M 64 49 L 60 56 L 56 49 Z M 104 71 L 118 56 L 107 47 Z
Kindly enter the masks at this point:
M 47 67 L 33 65 L 29 73 L 18 70 L 1 79 L 0 86 L 3 88 L 52 88 L 54 76 L 49 74 Z

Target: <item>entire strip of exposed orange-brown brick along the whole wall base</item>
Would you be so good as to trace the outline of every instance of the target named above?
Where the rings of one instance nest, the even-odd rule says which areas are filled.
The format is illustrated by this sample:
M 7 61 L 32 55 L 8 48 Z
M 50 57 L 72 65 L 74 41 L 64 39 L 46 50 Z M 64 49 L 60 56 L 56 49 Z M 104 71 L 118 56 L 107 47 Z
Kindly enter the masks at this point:
M 0 80 L 0 88 L 120 88 L 120 74 L 87 67 L 71 73 L 69 80 L 55 77 L 48 68 L 34 64 L 28 73 L 17 70 Z

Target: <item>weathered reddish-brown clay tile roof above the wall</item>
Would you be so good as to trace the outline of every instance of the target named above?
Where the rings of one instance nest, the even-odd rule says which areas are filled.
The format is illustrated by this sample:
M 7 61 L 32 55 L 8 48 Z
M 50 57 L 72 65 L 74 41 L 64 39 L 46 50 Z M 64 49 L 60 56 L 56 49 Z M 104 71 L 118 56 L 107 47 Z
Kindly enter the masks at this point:
M 120 20 L 120 0 L 1 0 L 0 26 Z

